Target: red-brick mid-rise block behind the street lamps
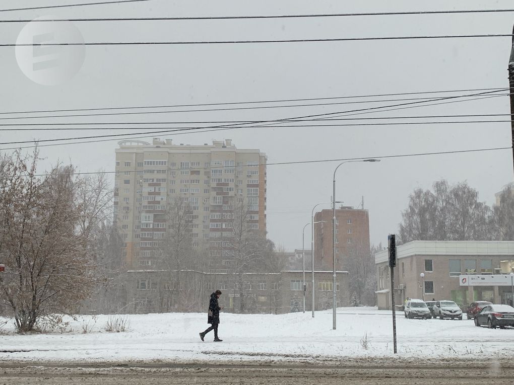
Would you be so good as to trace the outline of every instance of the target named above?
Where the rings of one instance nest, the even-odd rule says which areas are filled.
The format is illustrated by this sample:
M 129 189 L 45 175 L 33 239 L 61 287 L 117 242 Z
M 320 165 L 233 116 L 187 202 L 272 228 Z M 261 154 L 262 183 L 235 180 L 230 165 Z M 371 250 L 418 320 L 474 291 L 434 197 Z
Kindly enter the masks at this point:
M 315 266 L 332 268 L 333 210 L 321 210 L 314 216 Z M 351 270 L 351 260 L 370 252 L 370 218 L 368 210 L 341 206 L 336 209 L 335 265 L 338 270 Z M 316 268 L 315 267 L 315 268 Z

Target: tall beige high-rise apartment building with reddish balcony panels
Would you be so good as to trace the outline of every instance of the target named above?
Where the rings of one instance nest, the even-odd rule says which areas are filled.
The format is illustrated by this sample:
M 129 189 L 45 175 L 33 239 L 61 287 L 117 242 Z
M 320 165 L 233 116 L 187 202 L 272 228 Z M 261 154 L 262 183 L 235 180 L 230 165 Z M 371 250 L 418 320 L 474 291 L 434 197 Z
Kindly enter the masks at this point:
M 126 140 L 116 149 L 114 220 L 124 238 L 125 265 L 151 269 L 155 247 L 177 198 L 190 208 L 193 247 L 231 232 L 227 218 L 238 202 L 250 229 L 266 235 L 266 155 L 236 148 L 230 139 L 212 144 Z M 205 243 L 204 243 L 205 244 Z

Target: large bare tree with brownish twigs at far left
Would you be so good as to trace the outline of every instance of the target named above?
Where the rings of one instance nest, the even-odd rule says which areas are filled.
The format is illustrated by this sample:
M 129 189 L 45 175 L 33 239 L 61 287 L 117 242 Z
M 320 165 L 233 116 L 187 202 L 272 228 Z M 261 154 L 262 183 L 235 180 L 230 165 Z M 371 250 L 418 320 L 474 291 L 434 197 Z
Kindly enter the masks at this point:
M 0 179 L 2 259 L 0 300 L 16 329 L 28 332 L 52 313 L 70 313 L 98 279 L 81 231 L 81 208 L 73 168 L 54 167 L 36 176 L 38 151 L 4 158 Z

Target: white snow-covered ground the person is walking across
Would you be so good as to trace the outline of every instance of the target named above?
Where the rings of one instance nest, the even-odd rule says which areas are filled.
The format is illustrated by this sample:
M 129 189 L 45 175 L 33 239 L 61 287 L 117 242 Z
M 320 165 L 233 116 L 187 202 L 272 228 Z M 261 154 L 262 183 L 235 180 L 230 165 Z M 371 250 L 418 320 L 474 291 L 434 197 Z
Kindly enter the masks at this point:
M 344 357 L 392 357 L 392 316 L 374 307 L 283 315 L 221 314 L 219 337 L 205 342 L 198 333 L 207 315 L 166 313 L 130 315 L 129 330 L 105 332 L 109 316 L 71 318 L 64 333 L 16 335 L 12 323 L 0 332 L 0 362 L 339 362 Z M 466 316 L 464 316 L 466 318 Z M 472 320 L 418 320 L 396 314 L 398 355 L 420 358 L 508 358 L 514 351 L 514 329 L 477 328 Z M 366 341 L 367 340 L 367 347 Z M 367 349 L 366 349 L 367 348 Z

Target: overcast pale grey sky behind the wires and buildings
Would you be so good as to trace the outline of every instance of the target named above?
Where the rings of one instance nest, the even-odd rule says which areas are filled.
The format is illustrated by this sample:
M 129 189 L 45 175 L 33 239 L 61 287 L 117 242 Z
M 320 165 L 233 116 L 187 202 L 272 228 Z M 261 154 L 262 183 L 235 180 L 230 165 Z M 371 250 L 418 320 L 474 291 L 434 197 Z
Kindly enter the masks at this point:
M 73 4 L 75 0 L 13 0 L 2 8 Z M 0 12 L 0 18 L 156 17 L 276 15 L 442 9 L 514 8 L 495 1 L 195 1 L 154 0 L 35 11 Z M 450 15 L 358 16 L 275 20 L 76 22 L 85 42 L 276 40 L 365 36 L 511 33 L 514 12 Z M 23 23 L 0 23 L 2 43 L 14 43 Z M 57 86 L 28 79 L 14 47 L 0 48 L 1 112 L 41 109 L 125 107 L 191 103 L 327 98 L 395 92 L 508 87 L 510 37 L 428 40 L 87 46 L 80 71 Z M 419 95 L 424 97 L 425 95 Z M 413 96 L 415 97 L 415 96 Z M 397 97 L 402 98 L 402 97 Z M 383 98 L 393 99 L 393 98 Z M 359 101 L 366 99 L 359 99 Z M 368 99 L 369 100 L 369 99 Z M 355 100 L 357 101 L 357 99 Z M 158 113 L 121 117 L 25 119 L 30 122 L 136 122 L 269 120 L 367 108 L 393 102 L 301 108 Z M 423 106 L 358 117 L 509 113 L 508 96 Z M 40 114 L 42 115 L 42 114 Z M 2 117 L 5 117 L 2 115 Z M 505 120 L 507 117 L 498 118 Z M 444 120 L 444 119 L 442 119 Z M 457 120 L 466 120 L 461 118 Z M 476 120 L 469 118 L 469 120 Z M 8 123 L 3 120 L 0 123 Z M 359 121 L 357 121 L 359 122 Z M 369 121 L 366 121 L 369 122 Z M 344 122 L 343 122 L 344 123 Z M 350 123 L 350 122 L 346 122 Z M 353 122 L 356 123 L 356 122 Z M 155 125 L 150 125 L 155 127 Z M 164 125 L 166 127 L 166 125 Z M 145 131 L 145 129 L 141 129 Z M 1 142 L 125 132 L 3 131 Z M 131 131 L 127 131 L 131 132 Z M 269 163 L 380 157 L 418 152 L 510 146 L 510 123 L 357 126 L 325 128 L 239 128 L 230 131 L 160 135 L 175 143 L 232 139 L 238 148 L 259 148 Z M 11 147 L 2 145 L 2 148 Z M 117 141 L 42 147 L 43 167 L 71 160 L 82 171 L 114 170 Z M 268 236 L 286 249 L 302 246 L 310 210 L 332 195 L 338 162 L 268 166 Z M 492 204 L 494 193 L 513 180 L 511 150 L 384 159 L 345 164 L 337 171 L 337 200 L 370 211 L 371 242 L 395 233 L 414 188 L 439 179 L 467 181 Z M 325 208 L 328 208 L 326 205 Z M 323 207 L 320 207 L 323 208 Z M 309 232 L 307 232 L 309 233 Z M 310 235 L 306 234 L 306 244 Z

